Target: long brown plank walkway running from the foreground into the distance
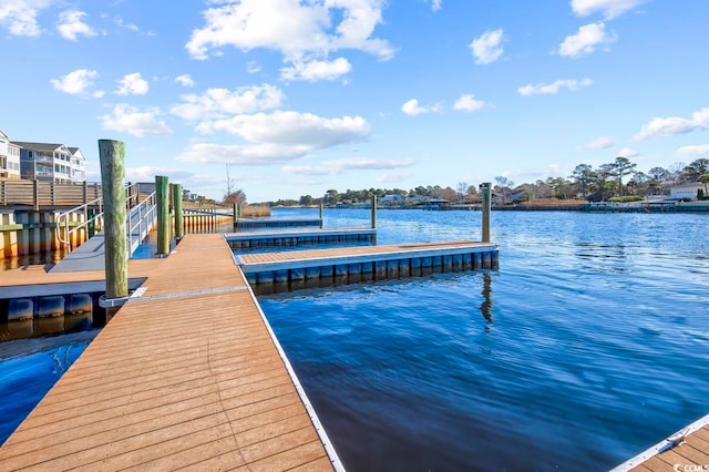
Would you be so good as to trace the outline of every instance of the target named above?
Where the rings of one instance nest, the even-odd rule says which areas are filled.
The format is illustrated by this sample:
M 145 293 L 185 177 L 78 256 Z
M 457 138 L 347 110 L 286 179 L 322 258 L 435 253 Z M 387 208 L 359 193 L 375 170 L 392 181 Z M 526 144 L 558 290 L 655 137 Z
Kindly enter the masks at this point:
M 0 470 L 341 469 L 223 236 L 151 263 Z

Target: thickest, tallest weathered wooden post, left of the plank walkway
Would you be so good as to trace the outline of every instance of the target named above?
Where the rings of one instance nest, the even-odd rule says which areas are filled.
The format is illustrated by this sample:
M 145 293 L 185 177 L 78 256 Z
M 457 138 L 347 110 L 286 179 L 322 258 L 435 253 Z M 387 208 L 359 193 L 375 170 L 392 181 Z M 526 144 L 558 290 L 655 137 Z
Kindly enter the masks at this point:
M 125 223 L 125 144 L 99 140 L 101 186 L 103 194 L 106 299 L 129 296 L 129 255 Z M 117 308 L 106 308 L 106 321 Z

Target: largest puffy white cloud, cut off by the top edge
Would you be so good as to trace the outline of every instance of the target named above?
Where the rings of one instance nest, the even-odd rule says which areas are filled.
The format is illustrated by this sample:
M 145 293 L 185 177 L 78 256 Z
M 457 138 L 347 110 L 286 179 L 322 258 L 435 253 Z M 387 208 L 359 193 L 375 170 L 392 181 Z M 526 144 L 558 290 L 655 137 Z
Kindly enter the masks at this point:
M 207 59 L 224 47 L 242 51 L 279 51 L 286 63 L 325 60 L 353 49 L 388 60 L 394 49 L 372 38 L 382 23 L 382 0 L 212 0 L 205 27 L 193 30 L 185 45 L 193 58 Z M 215 51 L 216 50 L 216 51 Z

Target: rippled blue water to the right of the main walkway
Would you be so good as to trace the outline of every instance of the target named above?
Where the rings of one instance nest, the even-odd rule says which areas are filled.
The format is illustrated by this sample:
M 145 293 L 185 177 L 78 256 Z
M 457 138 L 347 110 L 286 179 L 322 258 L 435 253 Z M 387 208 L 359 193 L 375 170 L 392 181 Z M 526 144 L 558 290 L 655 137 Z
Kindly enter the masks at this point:
M 480 216 L 379 212 L 379 244 Z M 607 470 L 709 412 L 708 224 L 494 212 L 499 270 L 259 302 L 348 470 Z

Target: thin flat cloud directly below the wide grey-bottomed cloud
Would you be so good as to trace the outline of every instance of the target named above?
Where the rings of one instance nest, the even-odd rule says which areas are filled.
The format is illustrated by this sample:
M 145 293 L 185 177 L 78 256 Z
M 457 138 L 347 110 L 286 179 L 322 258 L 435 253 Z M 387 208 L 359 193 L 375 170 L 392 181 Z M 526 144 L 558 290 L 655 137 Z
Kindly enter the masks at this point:
M 177 156 L 178 161 L 203 164 L 268 165 L 302 157 L 307 147 L 278 144 L 193 144 Z

